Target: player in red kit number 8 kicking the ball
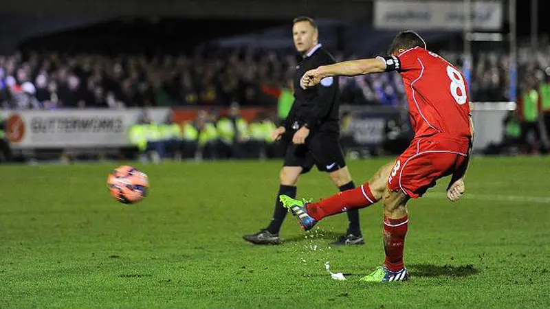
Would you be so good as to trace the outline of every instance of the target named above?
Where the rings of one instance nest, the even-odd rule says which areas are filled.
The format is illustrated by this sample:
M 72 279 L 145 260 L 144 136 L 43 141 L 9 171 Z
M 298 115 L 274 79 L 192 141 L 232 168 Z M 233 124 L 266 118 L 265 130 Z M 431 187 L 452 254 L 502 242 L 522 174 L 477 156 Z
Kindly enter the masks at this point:
M 452 175 L 447 188 L 450 201 L 465 191 L 463 177 L 471 155 L 474 126 L 465 78 L 459 69 L 426 49 L 416 32 L 395 36 L 389 56 L 339 62 L 307 71 L 304 88 L 327 76 L 357 76 L 397 71 L 403 78 L 415 137 L 395 161 L 384 165 L 366 183 L 318 203 L 281 196 L 300 225 L 309 230 L 326 216 L 349 209 L 384 205 L 384 265 L 363 277 L 366 282 L 408 279 L 403 249 L 408 229 L 406 203 L 422 196 L 438 179 Z

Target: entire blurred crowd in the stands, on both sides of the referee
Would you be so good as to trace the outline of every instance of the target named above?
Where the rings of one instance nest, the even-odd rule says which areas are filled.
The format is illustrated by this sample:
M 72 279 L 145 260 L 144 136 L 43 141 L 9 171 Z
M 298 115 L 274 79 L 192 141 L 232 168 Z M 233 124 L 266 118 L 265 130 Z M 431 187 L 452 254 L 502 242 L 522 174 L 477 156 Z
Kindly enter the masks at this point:
M 357 58 L 343 53 L 337 60 Z M 441 56 L 461 66 L 459 52 Z M 542 74 L 550 45 L 520 49 L 519 76 Z M 209 49 L 179 54 L 104 56 L 25 52 L 0 56 L 3 108 L 120 108 L 123 106 L 273 106 L 289 87 L 297 58 L 292 53 L 252 49 Z M 474 57 L 471 91 L 476 101 L 505 101 L 509 56 L 480 52 Z M 399 105 L 404 91 L 397 73 L 341 78 L 342 101 Z

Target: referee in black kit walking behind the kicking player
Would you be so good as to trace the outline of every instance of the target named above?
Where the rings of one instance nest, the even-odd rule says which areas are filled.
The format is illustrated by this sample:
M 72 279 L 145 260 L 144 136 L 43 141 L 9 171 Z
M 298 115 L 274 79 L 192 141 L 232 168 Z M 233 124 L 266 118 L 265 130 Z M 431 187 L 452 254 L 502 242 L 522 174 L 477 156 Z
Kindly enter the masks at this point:
M 344 161 L 340 146 L 340 125 L 338 123 L 338 79 L 327 77 L 318 86 L 304 90 L 300 78 L 309 69 L 330 65 L 335 60 L 318 43 L 318 28 L 307 16 L 294 19 L 292 26 L 294 46 L 302 59 L 294 74 L 294 104 L 283 126 L 274 130 L 272 137 L 281 139 L 286 149 L 285 162 L 281 169 L 281 186 L 276 196 L 275 210 L 270 225 L 259 232 L 243 238 L 253 244 L 280 244 L 279 230 L 287 215 L 287 209 L 279 196 L 296 197 L 296 182 L 317 166 L 329 174 L 331 181 L 340 191 L 355 187 Z M 347 233 L 333 244 L 364 244 L 359 225 L 358 209 L 347 211 L 349 227 Z

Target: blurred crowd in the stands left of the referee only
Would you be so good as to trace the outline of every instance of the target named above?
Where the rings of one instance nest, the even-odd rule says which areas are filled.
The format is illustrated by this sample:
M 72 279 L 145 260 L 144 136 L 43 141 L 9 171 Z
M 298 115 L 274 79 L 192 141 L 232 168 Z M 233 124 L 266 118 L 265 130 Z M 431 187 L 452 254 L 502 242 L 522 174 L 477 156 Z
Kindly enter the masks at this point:
M 4 108 L 272 105 L 295 64 L 273 53 L 14 54 L 0 56 L 0 103 Z

